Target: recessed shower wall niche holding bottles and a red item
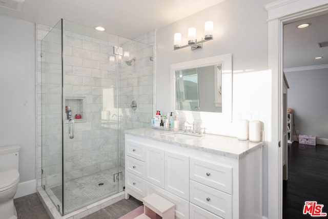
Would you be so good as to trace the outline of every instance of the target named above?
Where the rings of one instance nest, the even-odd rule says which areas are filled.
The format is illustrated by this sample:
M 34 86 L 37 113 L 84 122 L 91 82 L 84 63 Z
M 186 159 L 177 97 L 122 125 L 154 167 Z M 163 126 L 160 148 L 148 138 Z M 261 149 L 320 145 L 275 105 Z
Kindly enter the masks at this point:
M 86 122 L 86 111 L 85 111 L 85 96 L 66 96 L 65 97 L 65 109 L 70 107 L 72 111 L 72 118 L 75 123 Z M 67 111 L 66 123 L 68 123 Z M 80 114 L 81 118 L 75 118 L 76 114 Z

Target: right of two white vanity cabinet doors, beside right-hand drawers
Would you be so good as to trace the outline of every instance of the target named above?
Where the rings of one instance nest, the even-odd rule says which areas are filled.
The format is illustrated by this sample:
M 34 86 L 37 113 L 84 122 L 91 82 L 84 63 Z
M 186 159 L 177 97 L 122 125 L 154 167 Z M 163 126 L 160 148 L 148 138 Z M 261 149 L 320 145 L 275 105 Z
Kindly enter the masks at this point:
M 165 151 L 165 189 L 189 200 L 189 156 Z

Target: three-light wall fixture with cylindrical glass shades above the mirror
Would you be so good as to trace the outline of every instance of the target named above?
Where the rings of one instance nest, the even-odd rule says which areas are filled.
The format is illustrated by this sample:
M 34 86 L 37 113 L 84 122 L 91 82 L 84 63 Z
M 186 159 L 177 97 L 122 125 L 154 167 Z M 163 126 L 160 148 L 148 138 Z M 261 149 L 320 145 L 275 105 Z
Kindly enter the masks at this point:
M 196 39 L 196 28 L 191 27 L 188 29 L 188 44 L 181 46 L 181 33 L 174 34 L 174 50 L 190 47 L 191 50 L 203 48 L 204 42 L 211 41 L 213 39 L 213 22 L 205 22 L 205 36 L 201 38 L 201 41 Z

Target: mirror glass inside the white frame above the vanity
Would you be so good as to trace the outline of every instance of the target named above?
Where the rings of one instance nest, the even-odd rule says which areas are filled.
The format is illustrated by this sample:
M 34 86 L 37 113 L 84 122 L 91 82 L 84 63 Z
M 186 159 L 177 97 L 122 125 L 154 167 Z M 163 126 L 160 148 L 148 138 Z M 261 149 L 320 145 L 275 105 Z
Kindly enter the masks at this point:
M 222 112 L 222 65 L 175 71 L 177 110 Z

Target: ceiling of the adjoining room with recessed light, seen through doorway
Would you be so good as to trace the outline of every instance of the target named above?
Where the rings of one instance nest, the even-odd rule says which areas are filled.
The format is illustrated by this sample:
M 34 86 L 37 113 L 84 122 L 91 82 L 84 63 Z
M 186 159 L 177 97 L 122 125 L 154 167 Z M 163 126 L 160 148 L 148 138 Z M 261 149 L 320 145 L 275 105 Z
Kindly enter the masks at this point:
M 299 29 L 302 23 L 311 23 Z M 328 42 L 328 14 L 323 14 L 284 25 L 284 68 L 328 64 L 328 47 L 318 43 Z M 321 59 L 315 57 L 322 56 Z

